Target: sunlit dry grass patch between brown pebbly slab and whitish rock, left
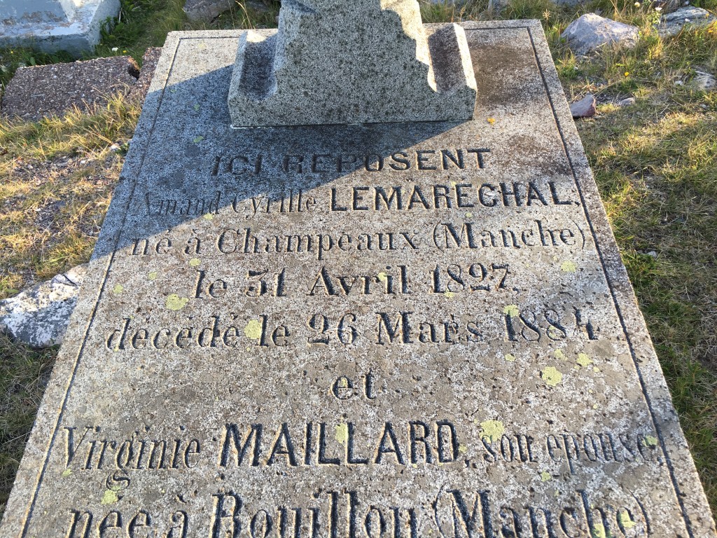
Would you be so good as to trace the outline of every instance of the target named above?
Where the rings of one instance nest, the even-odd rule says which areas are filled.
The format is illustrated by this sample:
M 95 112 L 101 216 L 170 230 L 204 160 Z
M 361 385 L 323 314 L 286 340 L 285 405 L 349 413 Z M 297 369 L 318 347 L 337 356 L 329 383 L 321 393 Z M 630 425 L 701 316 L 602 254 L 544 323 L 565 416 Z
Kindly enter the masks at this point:
M 139 107 L 0 122 L 0 298 L 89 259 Z

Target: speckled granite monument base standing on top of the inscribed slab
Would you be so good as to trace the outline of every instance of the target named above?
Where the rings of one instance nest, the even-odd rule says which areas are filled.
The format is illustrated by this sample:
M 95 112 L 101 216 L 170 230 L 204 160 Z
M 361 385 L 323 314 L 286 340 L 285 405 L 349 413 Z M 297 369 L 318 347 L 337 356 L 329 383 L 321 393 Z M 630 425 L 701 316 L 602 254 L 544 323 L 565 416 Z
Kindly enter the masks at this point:
M 463 29 L 427 36 L 416 0 L 284 2 L 278 31 L 242 35 L 229 89 L 235 127 L 461 121 L 474 106 Z

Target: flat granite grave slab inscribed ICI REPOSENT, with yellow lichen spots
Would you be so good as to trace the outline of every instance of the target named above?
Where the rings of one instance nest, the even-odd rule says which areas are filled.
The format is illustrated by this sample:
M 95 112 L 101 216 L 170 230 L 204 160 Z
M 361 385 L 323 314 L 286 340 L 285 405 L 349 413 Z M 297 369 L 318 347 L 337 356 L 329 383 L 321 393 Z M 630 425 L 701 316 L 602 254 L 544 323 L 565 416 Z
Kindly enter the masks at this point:
M 714 537 L 541 26 L 465 29 L 473 121 L 234 130 L 170 35 L 1 537 Z

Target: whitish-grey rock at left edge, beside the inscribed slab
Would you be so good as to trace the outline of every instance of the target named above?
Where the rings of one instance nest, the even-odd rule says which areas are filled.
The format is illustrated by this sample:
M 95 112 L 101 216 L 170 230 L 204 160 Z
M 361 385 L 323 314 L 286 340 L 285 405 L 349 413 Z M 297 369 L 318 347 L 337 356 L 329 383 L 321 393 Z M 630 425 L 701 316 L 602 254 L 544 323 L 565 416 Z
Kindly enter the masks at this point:
M 87 265 L 77 265 L 0 301 L 0 331 L 33 347 L 61 344 L 85 273 Z

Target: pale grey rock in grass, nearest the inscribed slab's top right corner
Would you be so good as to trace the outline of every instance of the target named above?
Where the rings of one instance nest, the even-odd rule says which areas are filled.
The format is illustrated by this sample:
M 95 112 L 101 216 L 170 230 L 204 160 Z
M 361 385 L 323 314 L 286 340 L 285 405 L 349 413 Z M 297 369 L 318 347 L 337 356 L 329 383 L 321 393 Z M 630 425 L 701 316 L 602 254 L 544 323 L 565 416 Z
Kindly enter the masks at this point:
M 571 22 L 561 37 L 567 40 L 568 46 L 575 54 L 588 55 L 607 44 L 634 47 L 639 33 L 640 29 L 630 24 L 587 13 Z

